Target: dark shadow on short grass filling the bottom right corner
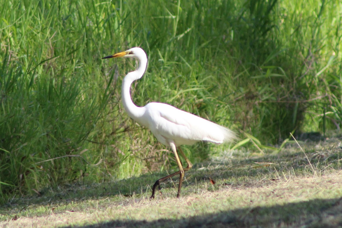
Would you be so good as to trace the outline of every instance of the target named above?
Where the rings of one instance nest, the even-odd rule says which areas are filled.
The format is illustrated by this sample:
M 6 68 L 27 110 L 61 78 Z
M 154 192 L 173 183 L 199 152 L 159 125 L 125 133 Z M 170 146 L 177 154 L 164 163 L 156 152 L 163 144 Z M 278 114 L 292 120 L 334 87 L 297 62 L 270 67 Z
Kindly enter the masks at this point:
M 153 210 L 153 208 L 151 208 Z M 314 199 L 270 207 L 244 208 L 181 219 L 117 219 L 65 228 L 109 227 L 342 227 L 342 198 Z

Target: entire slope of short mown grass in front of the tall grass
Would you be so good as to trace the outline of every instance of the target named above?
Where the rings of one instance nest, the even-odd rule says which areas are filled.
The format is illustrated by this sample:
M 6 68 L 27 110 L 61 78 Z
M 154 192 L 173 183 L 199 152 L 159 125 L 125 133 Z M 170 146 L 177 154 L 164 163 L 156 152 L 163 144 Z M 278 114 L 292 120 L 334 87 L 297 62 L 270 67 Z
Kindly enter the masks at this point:
M 187 174 L 179 199 L 172 181 L 156 200 L 142 189 L 163 173 L 50 189 L 9 202 L 0 226 L 341 227 L 339 141 L 302 146 L 305 154 L 295 144 L 276 156 L 222 153 Z

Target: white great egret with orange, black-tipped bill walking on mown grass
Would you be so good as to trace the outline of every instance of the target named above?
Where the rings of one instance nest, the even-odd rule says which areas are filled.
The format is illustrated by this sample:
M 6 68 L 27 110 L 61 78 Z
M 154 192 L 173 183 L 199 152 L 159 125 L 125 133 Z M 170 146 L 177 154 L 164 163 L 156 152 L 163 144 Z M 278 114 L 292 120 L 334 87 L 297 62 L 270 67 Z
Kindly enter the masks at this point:
M 192 145 L 197 141 L 209 141 L 221 144 L 232 141 L 235 138 L 235 134 L 226 127 L 177 109 L 169 104 L 152 102 L 146 104 L 144 107 L 136 106 L 131 99 L 130 87 L 133 81 L 140 79 L 145 73 L 147 66 L 146 53 L 140 47 L 133 47 L 127 51 L 103 57 L 103 59 L 118 57 L 135 58 L 138 61 L 137 69 L 129 72 L 122 81 L 121 96 L 124 109 L 132 119 L 148 127 L 159 142 L 171 147 L 179 167 L 178 172 L 162 177 L 155 182 L 150 198 L 155 197 L 157 186 L 160 191 L 160 182 L 180 174 L 178 198 L 181 193 L 184 171 L 191 169 L 192 163 L 183 151 L 178 148 L 178 151 L 187 163 L 187 167 L 183 169 L 176 148 L 180 145 Z

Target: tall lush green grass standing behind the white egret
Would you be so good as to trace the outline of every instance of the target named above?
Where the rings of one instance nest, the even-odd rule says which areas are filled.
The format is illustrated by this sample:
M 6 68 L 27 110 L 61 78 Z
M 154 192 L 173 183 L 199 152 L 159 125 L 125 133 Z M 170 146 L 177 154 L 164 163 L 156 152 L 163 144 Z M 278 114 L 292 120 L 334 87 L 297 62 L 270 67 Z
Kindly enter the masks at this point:
M 8 0 L 0 9 L 1 203 L 175 165 L 122 108 L 135 63 L 101 59 L 133 46 L 149 59 L 131 88 L 137 105 L 169 103 L 262 145 L 340 133 L 339 0 Z M 205 143 L 190 151 L 193 162 L 215 153 Z

